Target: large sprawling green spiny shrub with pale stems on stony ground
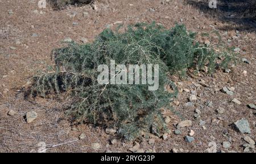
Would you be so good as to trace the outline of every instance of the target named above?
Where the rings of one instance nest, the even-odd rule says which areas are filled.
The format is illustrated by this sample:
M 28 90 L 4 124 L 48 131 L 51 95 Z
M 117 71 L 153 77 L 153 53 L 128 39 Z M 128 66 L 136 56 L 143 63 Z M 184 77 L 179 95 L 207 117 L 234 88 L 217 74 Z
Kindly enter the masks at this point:
M 200 45 L 195 35 L 178 24 L 165 29 L 155 23 L 139 23 L 122 33 L 105 29 L 90 44 L 72 42 L 53 50 L 55 67 L 34 77 L 32 92 L 43 97 L 63 93 L 73 97 L 68 113 L 74 118 L 118 127 L 127 140 L 141 131 L 159 135 L 167 131 L 162 110 L 171 109 L 170 102 L 177 95 L 169 76 L 184 75 L 188 68 L 200 69 L 205 64 L 214 70 L 218 57 L 230 59 L 228 53 L 217 54 Z M 142 84 L 98 84 L 98 66 L 109 66 L 112 59 L 126 66 L 158 64 L 159 89 L 150 91 Z

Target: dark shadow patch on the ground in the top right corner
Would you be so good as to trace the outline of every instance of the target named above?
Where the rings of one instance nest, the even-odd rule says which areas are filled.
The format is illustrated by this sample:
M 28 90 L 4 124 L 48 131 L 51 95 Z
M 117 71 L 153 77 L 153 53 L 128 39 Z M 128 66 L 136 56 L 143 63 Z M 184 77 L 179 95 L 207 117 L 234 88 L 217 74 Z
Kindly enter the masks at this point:
M 213 18 L 232 23 L 219 28 L 221 30 L 256 31 L 255 0 L 216 0 L 217 8 L 209 7 L 210 0 L 184 0 L 184 2 Z

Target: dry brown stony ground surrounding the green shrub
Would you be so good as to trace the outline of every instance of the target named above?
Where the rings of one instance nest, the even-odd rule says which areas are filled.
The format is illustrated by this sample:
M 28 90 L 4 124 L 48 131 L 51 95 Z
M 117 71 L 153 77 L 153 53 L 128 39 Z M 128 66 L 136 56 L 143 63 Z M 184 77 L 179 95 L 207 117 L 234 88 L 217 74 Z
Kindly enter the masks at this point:
M 155 143 L 151 145 L 148 144 L 148 139 L 139 138 L 137 141 L 144 151 L 170 152 L 175 148 L 178 152 L 206 152 L 209 142 L 215 141 L 218 151 L 243 152 L 243 135 L 231 126 L 241 118 L 249 120 L 249 136 L 256 139 L 255 110 L 246 107 L 248 103 L 256 103 L 254 32 L 242 31 L 238 37 L 232 38 L 236 36 L 236 24 L 218 21 L 178 0 L 168 3 L 158 0 L 101 0 L 96 2 L 97 10 L 93 10 L 92 6 L 71 6 L 60 11 L 52 10 L 49 6 L 40 10 L 37 2 L 0 0 L 0 152 L 31 152 L 40 141 L 47 144 L 47 152 L 129 152 L 133 146 L 132 142 L 117 138 L 117 143 L 112 145 L 109 140 L 117 136 L 106 134 L 101 127 L 76 124 L 67 119 L 62 109 L 68 102 L 42 98 L 24 100 L 24 93 L 21 90 L 22 87 L 26 87 L 30 77 L 37 70 L 52 64 L 51 50 L 63 46 L 62 40 L 70 37 L 81 42 L 81 37 L 84 37 L 93 41 L 94 36 L 102 29 L 117 21 L 127 25 L 155 20 L 170 28 L 175 22 L 182 20 L 189 30 L 199 33 L 220 29 L 219 32 L 227 47 L 241 48 L 237 54 L 238 63 L 235 67 L 230 67 L 230 73 L 218 70 L 213 76 L 204 76 L 202 73 L 195 78 L 188 76 L 185 79 L 176 79 L 180 89 L 187 88 L 198 97 L 194 106 L 186 107 L 185 103 L 188 102 L 191 93 L 180 92 L 176 100 L 179 101 L 179 105 L 174 104 L 178 114 L 166 113 L 171 118 L 168 127 L 171 131 L 175 130 L 174 124 L 181 119 L 190 119 L 193 125 L 183 128 L 181 135 L 174 135 L 171 132 L 167 140 L 156 138 Z M 9 10 L 13 10 L 13 14 L 9 14 Z M 35 10 L 38 10 L 38 13 Z M 40 14 L 40 11 L 43 13 Z M 88 15 L 84 16 L 83 12 L 88 12 Z M 73 22 L 79 24 L 73 25 Z M 232 28 L 226 28 L 230 26 Z M 37 36 L 33 37 L 33 33 Z M 228 39 L 232 41 L 228 43 Z M 241 58 L 247 58 L 251 64 L 241 62 Z M 247 74 L 243 74 L 243 71 L 247 71 Z M 209 87 L 197 85 L 200 79 L 205 80 Z M 235 88 L 234 96 L 220 92 L 225 86 Z M 237 98 L 242 104 L 231 102 L 233 98 Z M 208 106 L 207 103 L 210 101 L 212 105 Z M 225 113 L 217 114 L 215 110 L 218 107 L 223 107 Z M 14 116 L 7 115 L 11 109 L 17 112 Z M 205 128 L 199 126 L 198 120 L 193 119 L 195 109 L 201 110 L 201 119 L 206 122 Z M 24 115 L 31 110 L 38 113 L 38 118 L 28 124 L 24 120 Z M 186 143 L 184 136 L 190 130 L 195 131 L 196 140 L 193 143 Z M 85 133 L 85 139 L 73 141 L 77 140 L 81 133 Z M 223 135 L 224 133 L 226 135 Z M 69 141 L 73 142 L 52 146 Z M 230 141 L 231 147 L 222 148 L 222 141 Z M 92 143 L 100 143 L 101 149 L 92 149 Z

